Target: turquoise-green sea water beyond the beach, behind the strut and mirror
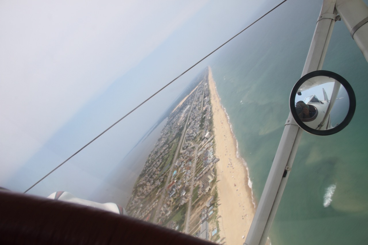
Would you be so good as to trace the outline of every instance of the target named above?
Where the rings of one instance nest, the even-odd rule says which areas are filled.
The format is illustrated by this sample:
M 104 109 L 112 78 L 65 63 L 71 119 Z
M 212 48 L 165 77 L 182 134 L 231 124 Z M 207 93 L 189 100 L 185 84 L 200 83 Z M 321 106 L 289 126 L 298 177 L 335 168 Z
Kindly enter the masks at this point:
M 212 59 L 217 90 L 247 161 L 257 200 L 320 8 L 317 0 L 288 1 Z M 335 135 L 303 133 L 270 231 L 272 245 L 367 243 L 368 64 L 342 21 L 335 25 L 323 70 L 350 82 L 357 98 L 355 115 Z

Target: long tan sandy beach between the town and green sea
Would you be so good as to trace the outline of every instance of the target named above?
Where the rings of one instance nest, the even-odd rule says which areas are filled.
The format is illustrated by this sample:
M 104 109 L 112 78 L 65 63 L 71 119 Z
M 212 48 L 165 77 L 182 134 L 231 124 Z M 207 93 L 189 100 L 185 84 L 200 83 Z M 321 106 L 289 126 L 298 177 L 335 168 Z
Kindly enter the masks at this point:
M 236 139 L 220 104 L 210 67 L 208 80 L 213 107 L 215 155 L 220 159 L 216 163 L 220 237 L 224 237 L 228 245 L 241 245 L 255 213 L 252 190 L 248 186 L 247 168 L 243 160 L 236 156 Z

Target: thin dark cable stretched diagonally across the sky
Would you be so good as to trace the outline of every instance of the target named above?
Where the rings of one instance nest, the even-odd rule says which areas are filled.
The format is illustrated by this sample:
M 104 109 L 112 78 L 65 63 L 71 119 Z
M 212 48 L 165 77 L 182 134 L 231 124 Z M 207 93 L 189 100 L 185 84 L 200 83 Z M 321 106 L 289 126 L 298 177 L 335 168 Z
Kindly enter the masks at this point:
M 185 73 L 187 73 L 189 70 L 191 70 L 193 67 L 195 67 L 196 65 L 198 65 L 199 63 L 201 63 L 201 61 L 203 61 L 205 58 L 207 58 L 208 56 L 210 56 L 211 54 L 215 53 L 217 50 L 219 50 L 222 46 L 224 46 L 226 43 L 230 42 L 231 40 L 233 40 L 234 38 L 236 38 L 238 35 L 240 35 L 240 33 L 244 32 L 246 29 L 250 28 L 252 25 L 254 25 L 256 22 L 258 22 L 260 19 L 262 19 L 263 17 L 265 17 L 266 15 L 268 15 L 269 13 L 271 13 L 273 10 L 275 10 L 276 8 L 278 8 L 280 5 L 282 5 L 283 3 L 285 3 L 287 0 L 282 1 L 281 3 L 277 4 L 276 7 L 272 8 L 270 11 L 268 11 L 266 14 L 262 15 L 260 18 L 258 18 L 256 21 L 254 21 L 252 24 L 248 25 L 246 28 L 244 28 L 243 30 L 241 30 L 239 33 L 237 33 L 235 36 L 233 36 L 232 38 L 230 38 L 229 40 L 227 40 L 226 42 L 224 42 L 221 46 L 217 47 L 217 49 L 213 50 L 211 53 L 207 54 L 205 57 L 203 57 L 201 60 L 199 60 L 197 63 L 195 63 L 194 65 L 192 65 L 190 68 L 188 68 L 186 71 L 184 71 L 182 74 L 178 75 L 176 78 L 174 78 L 171 82 L 169 82 L 168 84 L 166 84 L 165 86 L 163 86 L 161 89 L 159 89 L 156 93 L 154 93 L 153 95 L 151 95 L 150 97 L 148 97 L 148 99 L 146 99 L 144 102 L 140 103 L 137 107 L 135 107 L 133 110 L 129 111 L 127 114 L 125 114 L 124 117 L 120 118 L 119 120 L 116 121 L 116 123 L 114 123 L 113 125 L 111 125 L 110 127 L 108 127 L 105 131 L 103 131 L 101 134 L 99 134 L 96 138 L 92 139 L 92 141 L 88 142 L 85 146 L 83 146 L 81 149 L 79 149 L 77 152 L 75 152 L 73 155 L 71 155 L 67 160 L 63 161 L 61 164 L 59 164 L 59 166 L 57 166 L 56 168 L 54 168 L 53 170 L 51 170 L 48 174 L 46 174 L 44 177 L 42 177 L 39 181 L 37 181 L 35 184 L 33 184 L 31 187 L 29 187 L 28 189 L 26 189 L 26 191 L 24 193 L 27 193 L 30 189 L 32 189 L 33 187 L 35 187 L 35 185 L 37 185 L 39 182 L 41 182 L 42 180 L 44 180 L 47 176 L 49 176 L 50 174 L 52 174 L 55 170 L 57 170 L 59 167 L 61 167 L 64 163 L 66 163 L 67 161 L 69 161 L 72 157 L 74 157 L 75 155 L 77 155 L 79 152 L 81 152 L 81 150 L 83 150 L 84 148 L 86 148 L 89 144 L 91 144 L 93 141 L 95 141 L 96 139 L 98 139 L 101 135 L 105 134 L 110 128 L 114 127 L 116 124 L 118 124 L 121 120 L 123 120 L 125 117 L 127 117 L 128 115 L 130 115 L 133 111 L 137 110 L 139 107 L 142 106 L 142 104 L 146 103 L 148 100 L 152 99 L 153 96 L 157 95 L 159 92 L 161 92 L 164 88 L 166 88 L 167 86 L 169 86 L 170 84 L 172 84 L 174 81 L 176 81 L 178 78 L 180 78 L 182 75 L 184 75 Z

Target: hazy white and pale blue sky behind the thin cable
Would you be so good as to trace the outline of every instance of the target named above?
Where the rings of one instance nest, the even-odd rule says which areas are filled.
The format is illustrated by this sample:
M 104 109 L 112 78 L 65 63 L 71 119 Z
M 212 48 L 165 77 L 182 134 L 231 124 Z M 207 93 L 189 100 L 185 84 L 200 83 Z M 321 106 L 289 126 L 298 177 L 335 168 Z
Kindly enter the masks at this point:
M 24 191 L 279 2 L 0 1 L 0 186 Z M 107 145 L 126 155 L 206 65 L 125 118 Z

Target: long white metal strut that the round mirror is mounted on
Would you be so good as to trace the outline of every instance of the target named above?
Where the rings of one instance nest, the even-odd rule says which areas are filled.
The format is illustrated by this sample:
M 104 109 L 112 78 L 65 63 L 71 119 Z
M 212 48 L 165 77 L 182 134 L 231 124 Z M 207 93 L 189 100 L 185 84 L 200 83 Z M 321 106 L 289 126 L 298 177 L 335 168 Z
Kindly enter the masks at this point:
M 309 72 L 322 69 L 333 26 L 339 19 L 335 10 L 335 2 L 335 0 L 323 1 L 301 77 Z M 303 130 L 295 123 L 294 118 L 289 113 L 265 188 L 243 245 L 264 245 L 266 243 L 290 175 L 302 132 Z

